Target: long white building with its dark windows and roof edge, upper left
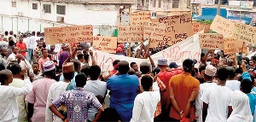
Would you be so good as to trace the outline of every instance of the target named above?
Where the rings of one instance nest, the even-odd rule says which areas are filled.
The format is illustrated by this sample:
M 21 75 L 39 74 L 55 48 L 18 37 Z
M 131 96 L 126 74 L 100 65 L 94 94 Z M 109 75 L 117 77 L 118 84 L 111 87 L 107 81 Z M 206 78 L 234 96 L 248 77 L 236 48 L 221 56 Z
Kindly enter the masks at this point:
M 113 35 L 119 14 L 136 0 L 0 0 L 0 32 L 44 32 L 44 27 L 92 25 Z

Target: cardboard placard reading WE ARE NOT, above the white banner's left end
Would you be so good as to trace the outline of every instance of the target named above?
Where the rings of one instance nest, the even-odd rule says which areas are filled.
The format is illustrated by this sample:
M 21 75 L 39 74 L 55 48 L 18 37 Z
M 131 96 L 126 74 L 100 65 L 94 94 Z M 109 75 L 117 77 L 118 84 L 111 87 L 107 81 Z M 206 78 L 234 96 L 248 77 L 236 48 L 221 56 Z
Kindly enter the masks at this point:
M 93 49 L 107 53 L 116 53 L 117 37 L 96 36 L 93 39 Z

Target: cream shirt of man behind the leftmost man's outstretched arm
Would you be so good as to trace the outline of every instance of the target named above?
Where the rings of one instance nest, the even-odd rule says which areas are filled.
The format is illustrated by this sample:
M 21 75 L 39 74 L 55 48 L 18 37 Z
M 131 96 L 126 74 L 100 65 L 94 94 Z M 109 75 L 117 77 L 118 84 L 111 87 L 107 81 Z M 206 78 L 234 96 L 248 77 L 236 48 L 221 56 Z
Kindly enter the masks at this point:
M 25 87 L 25 81 L 20 78 L 14 78 L 13 82 L 9 84 L 9 86 L 14 87 Z M 26 111 L 27 111 L 27 102 L 25 101 L 25 96 L 17 96 L 16 97 L 18 108 L 19 108 L 19 122 L 25 122 L 26 121 Z

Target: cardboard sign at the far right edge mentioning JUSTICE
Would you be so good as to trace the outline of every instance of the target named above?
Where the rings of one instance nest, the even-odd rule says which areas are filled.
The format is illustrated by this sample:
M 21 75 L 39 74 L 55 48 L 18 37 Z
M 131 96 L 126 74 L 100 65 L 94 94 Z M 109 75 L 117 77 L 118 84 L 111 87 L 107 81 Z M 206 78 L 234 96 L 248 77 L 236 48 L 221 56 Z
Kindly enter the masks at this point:
M 256 44 L 256 27 L 242 23 L 236 23 L 234 37 L 247 44 Z

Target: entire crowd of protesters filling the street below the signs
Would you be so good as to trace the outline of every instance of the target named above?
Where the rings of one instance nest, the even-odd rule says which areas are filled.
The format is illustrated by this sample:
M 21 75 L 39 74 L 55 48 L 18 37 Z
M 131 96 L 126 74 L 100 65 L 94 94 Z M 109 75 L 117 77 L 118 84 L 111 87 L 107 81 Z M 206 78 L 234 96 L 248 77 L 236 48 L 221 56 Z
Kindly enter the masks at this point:
M 117 55 L 132 56 L 131 48 L 118 44 Z M 203 50 L 200 61 L 178 66 L 154 62 L 150 55 L 160 48 L 142 44 L 133 56 L 150 62 L 115 60 L 108 71 L 96 64 L 90 44 L 46 45 L 41 32 L 4 32 L 0 121 L 254 122 L 256 56 L 245 55 L 256 47 L 247 49 Z

